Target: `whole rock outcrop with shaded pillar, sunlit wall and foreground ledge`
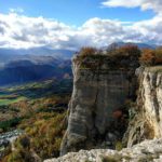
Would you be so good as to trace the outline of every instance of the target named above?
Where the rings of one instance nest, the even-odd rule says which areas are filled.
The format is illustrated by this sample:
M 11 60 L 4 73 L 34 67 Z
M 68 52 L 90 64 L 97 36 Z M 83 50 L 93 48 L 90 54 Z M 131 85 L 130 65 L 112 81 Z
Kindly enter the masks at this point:
M 161 162 L 162 66 L 137 68 L 131 62 L 127 69 L 111 68 L 110 62 L 99 59 L 73 59 L 73 92 L 62 143 L 62 154 L 69 153 L 45 162 Z M 129 125 L 127 98 L 136 103 L 127 110 L 133 114 Z M 123 134 L 127 148 L 117 151 L 113 146 Z

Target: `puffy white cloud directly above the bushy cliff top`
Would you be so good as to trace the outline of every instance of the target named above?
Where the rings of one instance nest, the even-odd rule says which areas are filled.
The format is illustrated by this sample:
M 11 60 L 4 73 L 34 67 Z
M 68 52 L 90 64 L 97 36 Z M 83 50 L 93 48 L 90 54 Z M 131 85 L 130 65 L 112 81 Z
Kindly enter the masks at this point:
M 104 46 L 109 42 L 121 40 L 124 28 L 118 21 L 91 18 L 83 24 L 80 32 L 89 36 L 90 44 Z

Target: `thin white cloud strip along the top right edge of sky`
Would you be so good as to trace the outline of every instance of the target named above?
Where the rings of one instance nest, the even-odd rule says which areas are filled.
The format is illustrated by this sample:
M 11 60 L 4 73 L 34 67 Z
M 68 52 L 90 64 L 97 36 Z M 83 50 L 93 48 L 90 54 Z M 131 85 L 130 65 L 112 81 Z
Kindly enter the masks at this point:
M 153 10 L 154 12 L 162 12 L 162 0 L 107 0 L 102 3 L 104 6 L 117 8 L 136 8 L 141 10 Z

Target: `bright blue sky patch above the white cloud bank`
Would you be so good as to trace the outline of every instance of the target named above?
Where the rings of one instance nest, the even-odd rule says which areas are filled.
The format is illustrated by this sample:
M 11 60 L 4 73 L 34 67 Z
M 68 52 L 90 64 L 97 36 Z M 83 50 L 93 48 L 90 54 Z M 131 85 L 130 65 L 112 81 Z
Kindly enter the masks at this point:
M 11 9 L 23 9 L 28 16 L 43 16 L 80 26 L 92 17 L 120 19 L 122 22 L 138 22 L 154 16 L 151 10 L 140 8 L 102 8 L 103 0 L 5 0 L 1 1 L 1 13 Z

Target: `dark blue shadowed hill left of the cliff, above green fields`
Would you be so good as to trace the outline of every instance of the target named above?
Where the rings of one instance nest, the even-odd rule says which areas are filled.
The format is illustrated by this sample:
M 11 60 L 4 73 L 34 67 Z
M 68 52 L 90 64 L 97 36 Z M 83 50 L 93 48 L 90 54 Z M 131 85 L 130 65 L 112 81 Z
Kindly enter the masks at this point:
M 19 84 L 51 78 L 71 78 L 71 62 L 40 56 L 37 59 L 12 60 L 0 68 L 0 85 Z

